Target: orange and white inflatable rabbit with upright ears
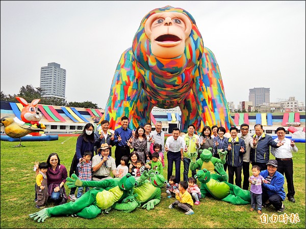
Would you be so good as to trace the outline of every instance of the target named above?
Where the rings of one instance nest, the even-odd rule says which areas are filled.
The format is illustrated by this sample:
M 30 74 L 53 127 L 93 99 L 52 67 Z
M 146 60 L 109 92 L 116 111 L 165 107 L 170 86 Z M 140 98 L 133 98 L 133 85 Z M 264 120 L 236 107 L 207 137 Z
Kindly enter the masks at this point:
M 41 128 L 45 129 L 46 126 L 42 123 L 39 123 L 41 120 L 41 113 L 38 111 L 36 105 L 39 103 L 40 99 L 34 99 L 30 104 L 27 102 L 27 100 L 16 96 L 15 97 L 24 107 L 21 110 L 21 120 L 25 123 L 31 124 L 34 128 Z M 37 133 L 31 133 L 34 135 L 39 135 L 39 132 Z

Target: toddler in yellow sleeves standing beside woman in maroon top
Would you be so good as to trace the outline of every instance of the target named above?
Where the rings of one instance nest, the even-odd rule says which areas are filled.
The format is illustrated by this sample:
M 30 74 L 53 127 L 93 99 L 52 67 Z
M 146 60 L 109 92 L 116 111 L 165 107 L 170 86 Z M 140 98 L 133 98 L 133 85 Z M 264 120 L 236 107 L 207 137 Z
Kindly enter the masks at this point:
M 47 186 L 47 170 L 48 170 L 48 163 L 41 162 L 38 165 L 39 173 L 36 176 L 36 208 L 44 208 L 45 204 L 48 200 L 48 186 Z

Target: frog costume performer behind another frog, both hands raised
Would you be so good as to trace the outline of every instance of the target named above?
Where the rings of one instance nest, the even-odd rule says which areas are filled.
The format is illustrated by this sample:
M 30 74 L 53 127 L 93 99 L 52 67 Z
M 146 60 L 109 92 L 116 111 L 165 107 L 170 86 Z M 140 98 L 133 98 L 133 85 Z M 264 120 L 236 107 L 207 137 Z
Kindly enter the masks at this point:
M 219 158 L 213 157 L 212 154 L 212 148 L 199 150 L 200 158 L 196 159 L 197 153 L 190 154 L 188 153 L 188 156 L 190 158 L 190 169 L 203 169 L 206 168 L 210 171 L 211 174 L 215 174 L 215 164 L 216 163 L 222 163 L 225 164 L 225 156 L 227 154 L 227 151 L 221 152 L 218 150 L 218 154 L 220 156 Z

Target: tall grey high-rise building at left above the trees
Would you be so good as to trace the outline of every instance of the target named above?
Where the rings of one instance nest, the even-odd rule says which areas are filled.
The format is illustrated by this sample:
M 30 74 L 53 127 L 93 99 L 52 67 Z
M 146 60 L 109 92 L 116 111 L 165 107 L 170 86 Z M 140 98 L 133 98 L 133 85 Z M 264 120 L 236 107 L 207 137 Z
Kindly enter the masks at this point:
M 65 99 L 66 70 L 57 63 L 48 63 L 40 68 L 40 88 L 43 97 L 56 97 Z

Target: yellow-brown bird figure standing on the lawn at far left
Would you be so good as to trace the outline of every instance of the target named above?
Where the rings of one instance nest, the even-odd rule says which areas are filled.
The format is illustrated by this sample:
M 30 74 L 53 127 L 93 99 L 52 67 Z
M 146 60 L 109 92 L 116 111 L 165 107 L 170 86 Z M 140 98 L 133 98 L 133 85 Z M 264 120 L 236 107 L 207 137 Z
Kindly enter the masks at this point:
M 15 122 L 15 120 L 11 117 L 3 117 L 1 118 L 1 126 L 5 126 L 5 133 L 12 138 L 19 138 L 20 143 L 16 147 L 21 146 L 21 137 L 24 137 L 27 134 L 44 131 L 43 129 L 35 128 L 33 126 L 22 125 Z

